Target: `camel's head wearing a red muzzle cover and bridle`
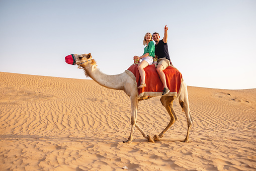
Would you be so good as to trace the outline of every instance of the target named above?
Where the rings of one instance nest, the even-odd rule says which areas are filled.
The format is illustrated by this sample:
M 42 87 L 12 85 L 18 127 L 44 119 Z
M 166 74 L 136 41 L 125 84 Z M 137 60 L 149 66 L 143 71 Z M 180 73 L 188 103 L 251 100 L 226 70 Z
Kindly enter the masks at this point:
M 91 53 L 89 54 L 72 54 L 72 55 L 67 55 L 65 57 L 66 63 L 71 64 L 71 65 L 79 65 L 79 67 L 86 66 L 87 64 L 96 64 L 95 60 L 92 58 Z

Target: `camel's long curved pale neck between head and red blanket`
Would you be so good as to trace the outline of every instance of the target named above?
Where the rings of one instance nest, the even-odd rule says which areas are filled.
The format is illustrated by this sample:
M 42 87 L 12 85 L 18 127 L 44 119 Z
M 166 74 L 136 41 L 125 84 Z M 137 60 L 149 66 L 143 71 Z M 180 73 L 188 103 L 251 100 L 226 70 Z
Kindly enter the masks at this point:
M 107 75 L 100 71 L 99 68 L 96 67 L 96 65 L 93 65 L 92 67 L 86 70 L 87 74 L 95 80 L 97 83 L 102 85 L 103 87 L 106 87 L 108 89 L 115 89 L 115 90 L 123 90 L 124 82 L 123 82 L 123 74 L 118 75 Z

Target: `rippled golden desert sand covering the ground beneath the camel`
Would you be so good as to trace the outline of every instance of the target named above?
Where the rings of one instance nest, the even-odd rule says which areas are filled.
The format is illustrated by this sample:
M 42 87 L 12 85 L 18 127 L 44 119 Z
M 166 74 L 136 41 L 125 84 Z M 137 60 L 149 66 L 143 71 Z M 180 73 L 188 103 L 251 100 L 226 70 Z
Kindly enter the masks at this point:
M 186 80 L 185 80 L 186 81 Z M 256 89 L 188 87 L 194 123 L 178 120 L 155 143 L 135 128 L 130 100 L 94 80 L 0 72 L 0 170 L 256 170 Z M 139 103 L 138 123 L 159 134 L 160 97 Z M 150 107 L 148 107 L 150 106 Z

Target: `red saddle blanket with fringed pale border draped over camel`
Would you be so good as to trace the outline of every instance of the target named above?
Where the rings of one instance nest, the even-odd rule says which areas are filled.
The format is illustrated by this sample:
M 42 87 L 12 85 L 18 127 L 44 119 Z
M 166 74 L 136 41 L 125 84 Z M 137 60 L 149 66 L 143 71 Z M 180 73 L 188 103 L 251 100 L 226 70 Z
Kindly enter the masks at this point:
M 138 65 L 131 65 L 126 72 L 133 77 L 133 79 L 136 79 L 137 86 L 141 83 L 141 77 L 138 70 Z M 145 83 L 146 87 L 142 89 L 138 89 L 138 98 L 142 96 L 161 96 L 162 90 L 163 90 L 163 84 L 160 80 L 160 77 L 156 71 L 155 65 L 149 65 L 144 68 L 146 72 L 146 78 Z M 130 71 L 130 72 L 129 72 Z M 179 94 L 181 83 L 183 82 L 182 74 L 181 72 L 172 67 L 168 66 L 166 69 L 163 70 L 166 78 L 167 87 L 170 90 L 170 92 L 166 96 L 175 96 Z M 131 74 L 132 73 L 132 74 Z

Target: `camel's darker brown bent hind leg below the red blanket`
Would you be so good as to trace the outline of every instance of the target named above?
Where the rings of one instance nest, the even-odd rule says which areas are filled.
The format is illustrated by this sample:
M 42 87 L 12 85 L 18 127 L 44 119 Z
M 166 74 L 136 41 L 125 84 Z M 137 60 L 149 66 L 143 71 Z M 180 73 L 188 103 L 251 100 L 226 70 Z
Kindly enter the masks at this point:
M 154 135 L 154 140 L 159 141 L 159 138 L 163 137 L 163 134 L 169 129 L 170 126 L 172 126 L 175 121 L 177 121 L 177 117 L 175 115 L 174 109 L 173 109 L 173 101 L 174 97 L 172 96 L 162 96 L 160 99 L 162 105 L 165 107 L 166 111 L 168 112 L 170 116 L 170 122 L 166 126 L 166 128 L 157 136 Z

